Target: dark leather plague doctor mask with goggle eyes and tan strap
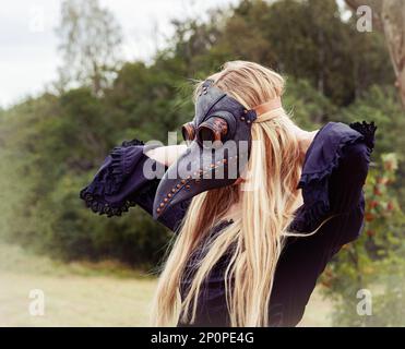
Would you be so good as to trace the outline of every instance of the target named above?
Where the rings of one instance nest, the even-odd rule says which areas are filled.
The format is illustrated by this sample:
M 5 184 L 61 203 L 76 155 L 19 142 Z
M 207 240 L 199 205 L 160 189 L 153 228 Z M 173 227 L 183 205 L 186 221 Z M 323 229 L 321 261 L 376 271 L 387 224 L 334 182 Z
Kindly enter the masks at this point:
M 279 98 L 247 110 L 206 80 L 195 101 L 194 119 L 182 128 L 184 140 L 191 143 L 159 182 L 154 218 L 170 215 L 170 207 L 204 191 L 234 184 L 249 159 L 252 122 L 278 107 Z

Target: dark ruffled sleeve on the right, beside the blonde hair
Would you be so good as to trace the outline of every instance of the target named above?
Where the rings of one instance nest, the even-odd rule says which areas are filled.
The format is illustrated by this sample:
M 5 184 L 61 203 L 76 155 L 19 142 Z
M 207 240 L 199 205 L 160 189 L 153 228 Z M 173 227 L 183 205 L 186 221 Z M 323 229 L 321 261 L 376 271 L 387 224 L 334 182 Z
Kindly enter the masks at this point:
M 305 159 L 298 183 L 303 205 L 291 230 L 311 232 L 329 216 L 361 202 L 376 129 L 373 122 L 330 122 L 319 131 Z

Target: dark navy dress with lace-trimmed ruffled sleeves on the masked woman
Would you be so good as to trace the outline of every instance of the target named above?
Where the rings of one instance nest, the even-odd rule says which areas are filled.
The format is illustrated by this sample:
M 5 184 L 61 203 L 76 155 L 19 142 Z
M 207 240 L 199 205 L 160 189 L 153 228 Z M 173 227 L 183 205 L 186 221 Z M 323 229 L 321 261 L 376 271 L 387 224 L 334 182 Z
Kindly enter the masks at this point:
M 290 230 L 305 234 L 313 231 L 331 215 L 317 233 L 288 238 L 277 263 L 271 294 L 271 326 L 295 326 L 301 320 L 318 277 L 340 249 L 360 234 L 365 198 L 362 186 L 368 173 L 370 154 L 374 146 L 373 123 L 329 122 L 320 129 L 307 151 L 298 188 L 303 205 L 296 212 Z M 108 216 L 120 215 L 132 205 L 140 205 L 152 214 L 158 179 L 147 180 L 142 165 L 147 159 L 138 141 L 116 147 L 98 170 L 92 183 L 81 191 L 88 207 Z M 179 204 L 169 216 L 159 220 L 176 231 L 186 214 L 188 203 Z M 222 221 L 212 234 L 231 221 Z M 201 245 L 203 249 L 204 242 Z M 187 277 L 180 285 L 182 297 L 192 280 L 190 266 L 201 251 L 189 260 Z M 178 326 L 229 326 L 225 300 L 224 269 L 226 253 L 210 273 L 199 296 L 194 324 Z

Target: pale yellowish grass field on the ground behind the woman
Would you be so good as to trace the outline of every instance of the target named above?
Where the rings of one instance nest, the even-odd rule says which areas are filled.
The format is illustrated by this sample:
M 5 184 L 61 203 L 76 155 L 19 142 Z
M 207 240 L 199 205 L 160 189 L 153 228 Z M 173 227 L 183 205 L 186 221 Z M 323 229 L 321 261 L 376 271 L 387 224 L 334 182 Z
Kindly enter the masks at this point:
M 56 263 L 0 244 L 0 326 L 147 326 L 156 279 L 115 262 Z M 28 312 L 45 294 L 44 316 Z M 315 291 L 300 326 L 329 326 L 332 304 Z

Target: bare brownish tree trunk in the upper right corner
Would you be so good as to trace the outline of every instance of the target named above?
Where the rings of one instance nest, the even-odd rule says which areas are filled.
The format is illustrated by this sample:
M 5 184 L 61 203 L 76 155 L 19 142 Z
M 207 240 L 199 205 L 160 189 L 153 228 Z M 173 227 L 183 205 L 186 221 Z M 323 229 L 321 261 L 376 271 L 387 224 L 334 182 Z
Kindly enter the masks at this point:
M 360 5 L 372 9 L 373 23 L 384 33 L 391 62 L 395 72 L 395 86 L 405 108 L 405 2 L 403 0 L 346 0 L 353 10 Z

